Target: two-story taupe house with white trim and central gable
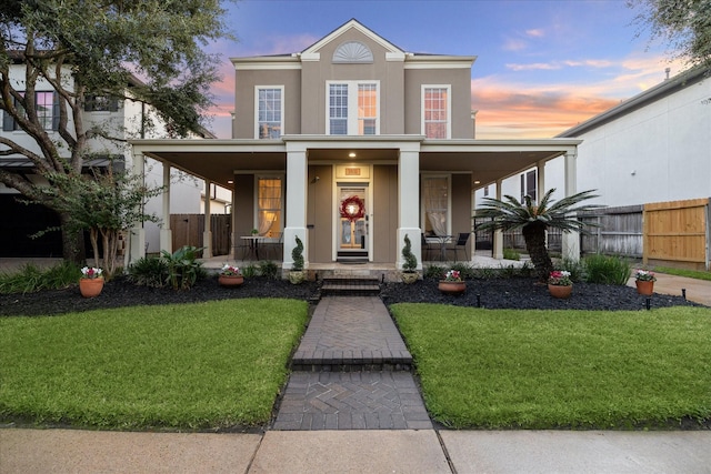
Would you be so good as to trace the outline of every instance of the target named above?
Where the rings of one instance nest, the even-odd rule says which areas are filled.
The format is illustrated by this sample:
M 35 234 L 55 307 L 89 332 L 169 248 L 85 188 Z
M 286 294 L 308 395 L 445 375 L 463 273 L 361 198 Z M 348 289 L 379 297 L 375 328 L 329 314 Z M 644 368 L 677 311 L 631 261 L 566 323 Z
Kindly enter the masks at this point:
M 421 233 L 472 232 L 475 189 L 557 157 L 574 173 L 580 140 L 474 139 L 474 60 L 407 52 L 350 20 L 301 52 L 232 59 L 232 140 L 137 140 L 133 153 L 232 190 L 233 241 L 283 233 L 283 269 L 296 236 L 307 268 L 401 268 L 405 235 L 421 263 Z

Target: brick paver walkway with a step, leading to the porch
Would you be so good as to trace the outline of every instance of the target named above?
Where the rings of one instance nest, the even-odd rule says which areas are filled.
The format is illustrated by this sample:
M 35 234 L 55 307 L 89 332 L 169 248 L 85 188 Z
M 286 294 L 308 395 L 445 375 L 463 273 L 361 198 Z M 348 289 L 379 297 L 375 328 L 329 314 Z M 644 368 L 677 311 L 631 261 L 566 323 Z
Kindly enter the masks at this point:
M 319 302 L 273 430 L 432 428 L 412 357 L 375 296 Z

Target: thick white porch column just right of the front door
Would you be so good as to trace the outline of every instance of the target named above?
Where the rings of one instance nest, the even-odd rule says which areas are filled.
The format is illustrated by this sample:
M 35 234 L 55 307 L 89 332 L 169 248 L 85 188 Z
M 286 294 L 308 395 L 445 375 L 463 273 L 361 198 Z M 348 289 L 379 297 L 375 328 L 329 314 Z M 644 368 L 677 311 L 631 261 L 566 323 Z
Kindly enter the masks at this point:
M 398 255 L 395 266 L 402 269 L 402 248 L 408 235 L 412 253 L 422 270 L 422 241 L 420 234 L 420 145 L 413 143 L 400 149 L 398 163 Z

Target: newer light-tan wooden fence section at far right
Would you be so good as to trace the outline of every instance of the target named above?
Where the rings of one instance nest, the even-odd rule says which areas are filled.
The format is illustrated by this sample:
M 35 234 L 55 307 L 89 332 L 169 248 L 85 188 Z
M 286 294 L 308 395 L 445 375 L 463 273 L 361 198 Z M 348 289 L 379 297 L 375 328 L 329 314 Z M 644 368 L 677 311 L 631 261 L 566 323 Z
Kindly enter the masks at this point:
M 644 204 L 645 264 L 709 270 L 709 199 Z

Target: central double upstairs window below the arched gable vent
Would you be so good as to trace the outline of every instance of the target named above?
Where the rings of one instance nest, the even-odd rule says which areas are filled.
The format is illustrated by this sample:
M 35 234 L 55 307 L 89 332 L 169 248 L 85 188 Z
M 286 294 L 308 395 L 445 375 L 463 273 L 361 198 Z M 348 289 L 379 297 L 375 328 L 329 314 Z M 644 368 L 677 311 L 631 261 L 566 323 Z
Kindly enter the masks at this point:
M 328 129 L 330 135 L 380 133 L 378 82 L 329 82 Z

